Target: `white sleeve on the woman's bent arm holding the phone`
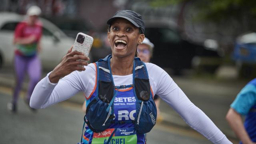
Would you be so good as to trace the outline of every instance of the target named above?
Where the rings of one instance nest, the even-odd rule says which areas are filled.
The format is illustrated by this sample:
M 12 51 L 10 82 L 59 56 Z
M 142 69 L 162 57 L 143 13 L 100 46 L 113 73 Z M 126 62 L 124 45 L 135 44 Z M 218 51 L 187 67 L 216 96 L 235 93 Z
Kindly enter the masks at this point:
M 85 68 L 85 71 L 74 71 L 68 74 L 60 79 L 58 84 L 50 82 L 48 78 L 50 73 L 48 73 L 34 88 L 30 98 L 30 106 L 32 108 L 46 108 L 66 100 L 80 91 L 90 95 L 95 85 L 96 68 L 94 64 L 89 64 Z

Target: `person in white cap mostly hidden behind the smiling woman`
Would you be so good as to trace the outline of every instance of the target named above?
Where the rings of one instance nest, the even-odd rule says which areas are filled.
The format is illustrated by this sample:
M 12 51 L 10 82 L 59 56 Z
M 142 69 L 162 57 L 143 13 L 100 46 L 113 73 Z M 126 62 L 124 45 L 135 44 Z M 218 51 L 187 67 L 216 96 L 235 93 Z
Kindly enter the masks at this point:
M 145 37 L 142 44 L 139 44 L 137 47 L 138 57 L 140 58 L 140 60 L 142 60 L 143 62 L 150 62 L 150 58 L 152 58 L 153 56 L 153 48 L 154 44 L 150 42 L 148 38 Z M 161 121 L 162 116 L 160 115 L 159 110 L 160 99 L 158 95 L 154 96 L 154 102 L 157 108 L 157 120 Z

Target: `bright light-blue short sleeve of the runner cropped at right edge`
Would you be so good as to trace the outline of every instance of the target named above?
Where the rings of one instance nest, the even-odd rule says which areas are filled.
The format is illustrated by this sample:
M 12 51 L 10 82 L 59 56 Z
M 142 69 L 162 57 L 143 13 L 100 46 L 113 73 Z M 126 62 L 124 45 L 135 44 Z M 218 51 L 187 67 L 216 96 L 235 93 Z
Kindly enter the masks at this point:
M 247 84 L 236 96 L 234 102 L 230 105 L 241 115 L 249 113 L 250 109 L 256 104 L 256 87 Z

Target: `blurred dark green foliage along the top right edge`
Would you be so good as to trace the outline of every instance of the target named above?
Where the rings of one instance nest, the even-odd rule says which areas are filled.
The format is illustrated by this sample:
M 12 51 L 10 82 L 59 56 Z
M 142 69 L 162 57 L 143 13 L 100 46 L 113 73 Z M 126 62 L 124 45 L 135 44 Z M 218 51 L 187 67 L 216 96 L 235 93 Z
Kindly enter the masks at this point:
M 256 18 L 256 0 L 149 0 L 151 6 L 161 7 L 182 2 L 194 2 L 199 19 L 220 21 L 242 16 Z

